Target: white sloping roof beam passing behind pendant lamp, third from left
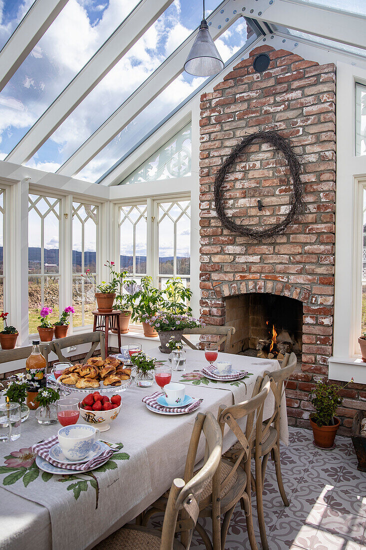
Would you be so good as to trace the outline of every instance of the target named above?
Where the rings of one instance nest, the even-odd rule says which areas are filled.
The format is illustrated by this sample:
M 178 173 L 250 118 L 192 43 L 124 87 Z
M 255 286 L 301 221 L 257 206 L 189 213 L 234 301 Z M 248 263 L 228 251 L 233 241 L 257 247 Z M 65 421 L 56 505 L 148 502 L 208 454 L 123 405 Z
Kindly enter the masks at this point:
M 227 0 L 219 5 L 207 21 L 210 34 L 215 40 L 234 23 L 242 13 L 237 13 L 236 0 Z M 228 19 L 228 21 L 226 21 Z M 104 146 L 123 130 L 145 107 L 147 107 L 177 76 L 183 72 L 184 63 L 195 41 L 193 32 L 130 97 L 88 138 L 83 145 L 58 169 L 57 174 L 74 175 L 95 157 Z

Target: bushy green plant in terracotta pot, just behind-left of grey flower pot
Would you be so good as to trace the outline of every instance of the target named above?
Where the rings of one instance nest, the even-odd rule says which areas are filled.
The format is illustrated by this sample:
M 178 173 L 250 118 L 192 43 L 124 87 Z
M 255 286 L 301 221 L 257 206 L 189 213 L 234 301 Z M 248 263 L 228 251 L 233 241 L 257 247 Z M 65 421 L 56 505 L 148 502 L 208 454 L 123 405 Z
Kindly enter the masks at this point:
M 140 300 L 135 306 L 134 318 L 138 318 L 142 322 L 143 334 L 149 338 L 153 338 L 158 333 L 150 320 L 156 315 L 162 305 L 162 293 L 153 287 L 152 278 L 148 276 L 142 277 L 140 287 L 141 290 L 138 295 Z

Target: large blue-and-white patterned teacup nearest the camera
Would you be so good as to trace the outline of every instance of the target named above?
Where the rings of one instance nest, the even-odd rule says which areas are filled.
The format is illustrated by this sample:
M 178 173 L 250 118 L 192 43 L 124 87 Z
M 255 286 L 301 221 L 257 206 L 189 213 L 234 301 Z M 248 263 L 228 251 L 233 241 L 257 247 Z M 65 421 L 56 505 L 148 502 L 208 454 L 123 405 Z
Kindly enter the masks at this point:
M 69 460 L 82 460 L 90 453 L 101 432 L 94 426 L 74 424 L 58 431 L 58 442 Z

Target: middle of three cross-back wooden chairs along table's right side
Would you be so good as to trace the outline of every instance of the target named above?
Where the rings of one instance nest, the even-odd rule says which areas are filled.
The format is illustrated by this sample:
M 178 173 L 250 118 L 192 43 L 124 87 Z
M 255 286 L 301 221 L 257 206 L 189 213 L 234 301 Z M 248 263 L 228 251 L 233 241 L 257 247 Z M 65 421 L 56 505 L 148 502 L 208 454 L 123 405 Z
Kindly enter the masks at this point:
M 262 381 L 262 377 L 260 377 Z M 235 433 L 235 436 L 241 442 L 242 452 L 239 453 L 235 463 L 221 458 L 220 465 L 210 483 L 202 492 L 201 502 L 199 503 L 199 518 L 212 518 L 213 543 L 203 529 L 201 524 L 196 524 L 196 530 L 201 536 L 208 550 L 224 550 L 226 535 L 228 533 L 232 512 L 239 500 L 243 499 L 242 507 L 245 510 L 249 541 L 253 550 L 257 550 L 256 539 L 253 530 L 252 505 L 251 505 L 251 450 L 252 441 L 258 422 L 262 423 L 262 412 L 265 398 L 268 395 L 270 382 L 266 378 L 267 385 L 264 383 L 260 393 L 254 398 L 244 401 L 238 405 L 219 408 L 219 424 L 221 432 L 224 433 L 225 424 Z M 243 433 L 237 420 L 247 417 L 246 431 Z M 195 466 L 195 456 L 188 453 L 185 480 L 193 475 Z M 169 492 L 160 497 L 153 508 L 148 510 L 143 523 L 153 515 L 167 507 Z M 221 524 L 221 514 L 224 519 Z

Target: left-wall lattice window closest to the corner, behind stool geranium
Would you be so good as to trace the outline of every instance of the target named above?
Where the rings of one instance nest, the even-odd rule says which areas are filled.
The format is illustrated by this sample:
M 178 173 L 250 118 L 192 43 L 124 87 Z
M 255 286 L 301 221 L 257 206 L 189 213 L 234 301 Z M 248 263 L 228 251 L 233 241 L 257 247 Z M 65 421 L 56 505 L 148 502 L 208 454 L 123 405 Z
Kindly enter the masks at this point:
M 93 323 L 96 309 L 95 284 L 81 277 L 87 269 L 98 278 L 97 270 L 98 206 L 73 202 L 73 326 Z

